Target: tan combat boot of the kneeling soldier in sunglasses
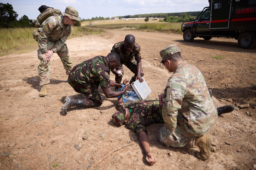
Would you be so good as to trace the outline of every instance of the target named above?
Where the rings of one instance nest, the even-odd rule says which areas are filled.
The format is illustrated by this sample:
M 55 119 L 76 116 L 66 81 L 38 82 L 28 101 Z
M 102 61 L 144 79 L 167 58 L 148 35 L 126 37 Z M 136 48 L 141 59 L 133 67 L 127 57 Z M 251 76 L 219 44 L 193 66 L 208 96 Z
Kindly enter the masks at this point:
M 200 152 L 196 153 L 199 159 L 207 160 L 211 156 L 212 138 L 210 135 L 203 135 L 196 139 L 195 144 L 200 148 Z

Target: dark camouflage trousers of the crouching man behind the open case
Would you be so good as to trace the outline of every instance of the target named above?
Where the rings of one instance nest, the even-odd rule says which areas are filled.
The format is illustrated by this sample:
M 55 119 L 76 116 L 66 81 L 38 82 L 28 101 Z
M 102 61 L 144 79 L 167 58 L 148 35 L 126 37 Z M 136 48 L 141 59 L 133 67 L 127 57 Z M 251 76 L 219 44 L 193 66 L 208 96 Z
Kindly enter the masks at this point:
M 123 65 L 127 66 L 129 70 L 132 71 L 132 73 L 134 73 L 134 76 L 131 78 L 131 81 L 134 82 L 136 77 L 137 77 L 137 61 L 135 59 L 133 59 L 130 62 L 123 62 L 120 63 L 119 66 L 116 67 L 116 70 L 121 70 L 121 72 L 124 74 L 124 69 L 123 69 Z M 143 70 L 141 69 L 141 77 L 143 77 L 144 73 Z M 121 83 L 123 78 L 123 75 L 115 75 L 115 82 L 116 83 Z

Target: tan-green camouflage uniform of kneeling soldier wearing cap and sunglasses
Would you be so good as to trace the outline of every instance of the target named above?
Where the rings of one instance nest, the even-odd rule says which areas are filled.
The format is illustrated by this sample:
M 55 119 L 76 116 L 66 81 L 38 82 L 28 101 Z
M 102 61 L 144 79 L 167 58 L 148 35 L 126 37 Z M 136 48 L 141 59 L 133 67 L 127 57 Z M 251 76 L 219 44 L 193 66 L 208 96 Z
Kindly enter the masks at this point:
M 218 118 L 203 74 L 186 61 L 169 78 L 163 104 L 165 125 L 158 139 L 167 147 L 195 147 L 196 137 L 210 130 Z

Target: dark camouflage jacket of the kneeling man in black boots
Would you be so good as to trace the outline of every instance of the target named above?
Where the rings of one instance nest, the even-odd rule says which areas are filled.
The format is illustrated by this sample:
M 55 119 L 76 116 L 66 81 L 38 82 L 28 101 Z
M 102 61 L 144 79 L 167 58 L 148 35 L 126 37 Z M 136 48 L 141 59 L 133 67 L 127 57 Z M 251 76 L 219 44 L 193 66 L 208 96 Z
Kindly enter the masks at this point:
M 100 83 L 102 89 L 110 88 L 110 66 L 104 56 L 96 56 L 78 64 L 76 70 L 71 70 L 70 74 L 76 84 Z

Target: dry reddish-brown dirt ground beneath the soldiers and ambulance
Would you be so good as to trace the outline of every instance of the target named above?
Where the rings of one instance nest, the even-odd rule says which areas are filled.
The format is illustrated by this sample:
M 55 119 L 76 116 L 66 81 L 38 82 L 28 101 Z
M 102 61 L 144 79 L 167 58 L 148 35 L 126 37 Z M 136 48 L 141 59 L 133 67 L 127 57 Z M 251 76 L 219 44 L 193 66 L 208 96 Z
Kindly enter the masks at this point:
M 197 159 L 198 147 L 166 148 L 156 137 L 163 124 L 155 124 L 147 126 L 147 130 L 157 162 L 148 166 L 139 141 L 131 142 L 137 135 L 124 125 L 115 126 L 111 120 L 116 98 L 106 99 L 97 108 L 72 108 L 62 116 L 65 97 L 83 98 L 83 95 L 67 83 L 61 60 L 54 54 L 48 96 L 39 97 L 39 60 L 35 49 L 0 57 L 0 169 L 256 168 L 256 49 L 240 49 L 233 39 L 196 38 L 188 43 L 182 35 L 134 30 L 109 30 L 101 35 L 69 39 L 66 43 L 76 65 L 97 55 L 106 56 L 113 44 L 124 40 L 127 34 L 133 34 L 141 45 L 144 78 L 152 90 L 150 98 L 158 98 L 171 75 L 159 64 L 159 51 L 176 43 L 183 59 L 204 74 L 216 106 L 237 106 L 232 113 L 220 116 L 208 132 L 213 143 L 210 159 Z M 114 80 L 113 74 L 110 76 Z M 124 78 L 131 76 L 125 68 Z M 88 138 L 83 140 L 83 137 Z

